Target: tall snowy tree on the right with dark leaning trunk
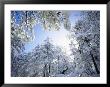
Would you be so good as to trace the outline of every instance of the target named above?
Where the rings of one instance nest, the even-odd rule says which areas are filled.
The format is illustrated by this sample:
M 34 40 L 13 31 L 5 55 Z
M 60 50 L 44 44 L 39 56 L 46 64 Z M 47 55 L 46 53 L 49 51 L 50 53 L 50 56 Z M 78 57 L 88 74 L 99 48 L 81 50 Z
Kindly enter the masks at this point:
M 80 76 L 96 76 L 100 74 L 100 12 L 84 11 L 71 30 L 72 38 L 77 40 L 79 47 L 72 53 L 76 61 L 76 71 Z

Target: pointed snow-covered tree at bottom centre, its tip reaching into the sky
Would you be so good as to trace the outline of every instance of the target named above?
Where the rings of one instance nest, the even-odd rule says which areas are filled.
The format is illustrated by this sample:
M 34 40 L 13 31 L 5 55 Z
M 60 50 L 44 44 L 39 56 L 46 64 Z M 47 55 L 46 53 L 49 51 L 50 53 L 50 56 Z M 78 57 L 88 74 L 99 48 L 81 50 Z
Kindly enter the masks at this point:
M 28 63 L 25 67 L 27 76 L 36 77 L 66 74 L 67 70 L 67 56 L 59 47 L 52 45 L 49 38 L 47 38 L 43 44 L 35 47 L 31 53 L 31 57 L 28 58 Z

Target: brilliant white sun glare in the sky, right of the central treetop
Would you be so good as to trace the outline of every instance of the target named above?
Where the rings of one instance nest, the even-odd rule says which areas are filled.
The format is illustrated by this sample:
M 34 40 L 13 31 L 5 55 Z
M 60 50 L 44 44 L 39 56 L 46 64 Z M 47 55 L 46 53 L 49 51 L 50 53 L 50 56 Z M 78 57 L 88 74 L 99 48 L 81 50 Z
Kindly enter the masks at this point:
M 66 52 L 66 54 L 70 55 L 70 40 L 67 37 L 67 35 L 69 34 L 69 32 L 65 29 L 60 29 L 59 31 L 49 31 L 49 38 L 52 39 L 52 43 L 56 46 L 59 46 L 62 48 L 62 50 L 64 52 Z

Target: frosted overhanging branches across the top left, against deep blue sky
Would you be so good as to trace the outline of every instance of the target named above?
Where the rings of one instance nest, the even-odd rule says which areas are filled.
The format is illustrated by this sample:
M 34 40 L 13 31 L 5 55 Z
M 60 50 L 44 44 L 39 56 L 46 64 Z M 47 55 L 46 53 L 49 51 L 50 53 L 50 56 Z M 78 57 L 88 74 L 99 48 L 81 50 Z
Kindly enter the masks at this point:
M 69 11 L 11 11 L 11 32 L 23 41 L 33 40 L 36 24 L 45 30 L 59 30 L 62 24 L 70 29 Z

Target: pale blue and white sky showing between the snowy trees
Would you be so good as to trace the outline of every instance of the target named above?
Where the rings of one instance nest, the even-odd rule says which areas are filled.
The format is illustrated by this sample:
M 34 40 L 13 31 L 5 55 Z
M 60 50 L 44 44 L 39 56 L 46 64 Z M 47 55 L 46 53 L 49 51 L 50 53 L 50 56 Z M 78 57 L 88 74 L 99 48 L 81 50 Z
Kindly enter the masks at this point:
M 70 14 L 70 21 L 72 25 L 79 19 L 80 11 L 72 11 Z M 69 32 L 63 27 L 59 31 L 46 31 L 42 29 L 40 25 L 34 27 L 35 39 L 25 45 L 25 52 L 29 52 L 34 49 L 38 44 L 43 43 L 43 41 L 49 37 L 52 40 L 52 44 L 60 46 L 68 55 L 71 53 L 69 48 L 69 39 L 67 35 Z

